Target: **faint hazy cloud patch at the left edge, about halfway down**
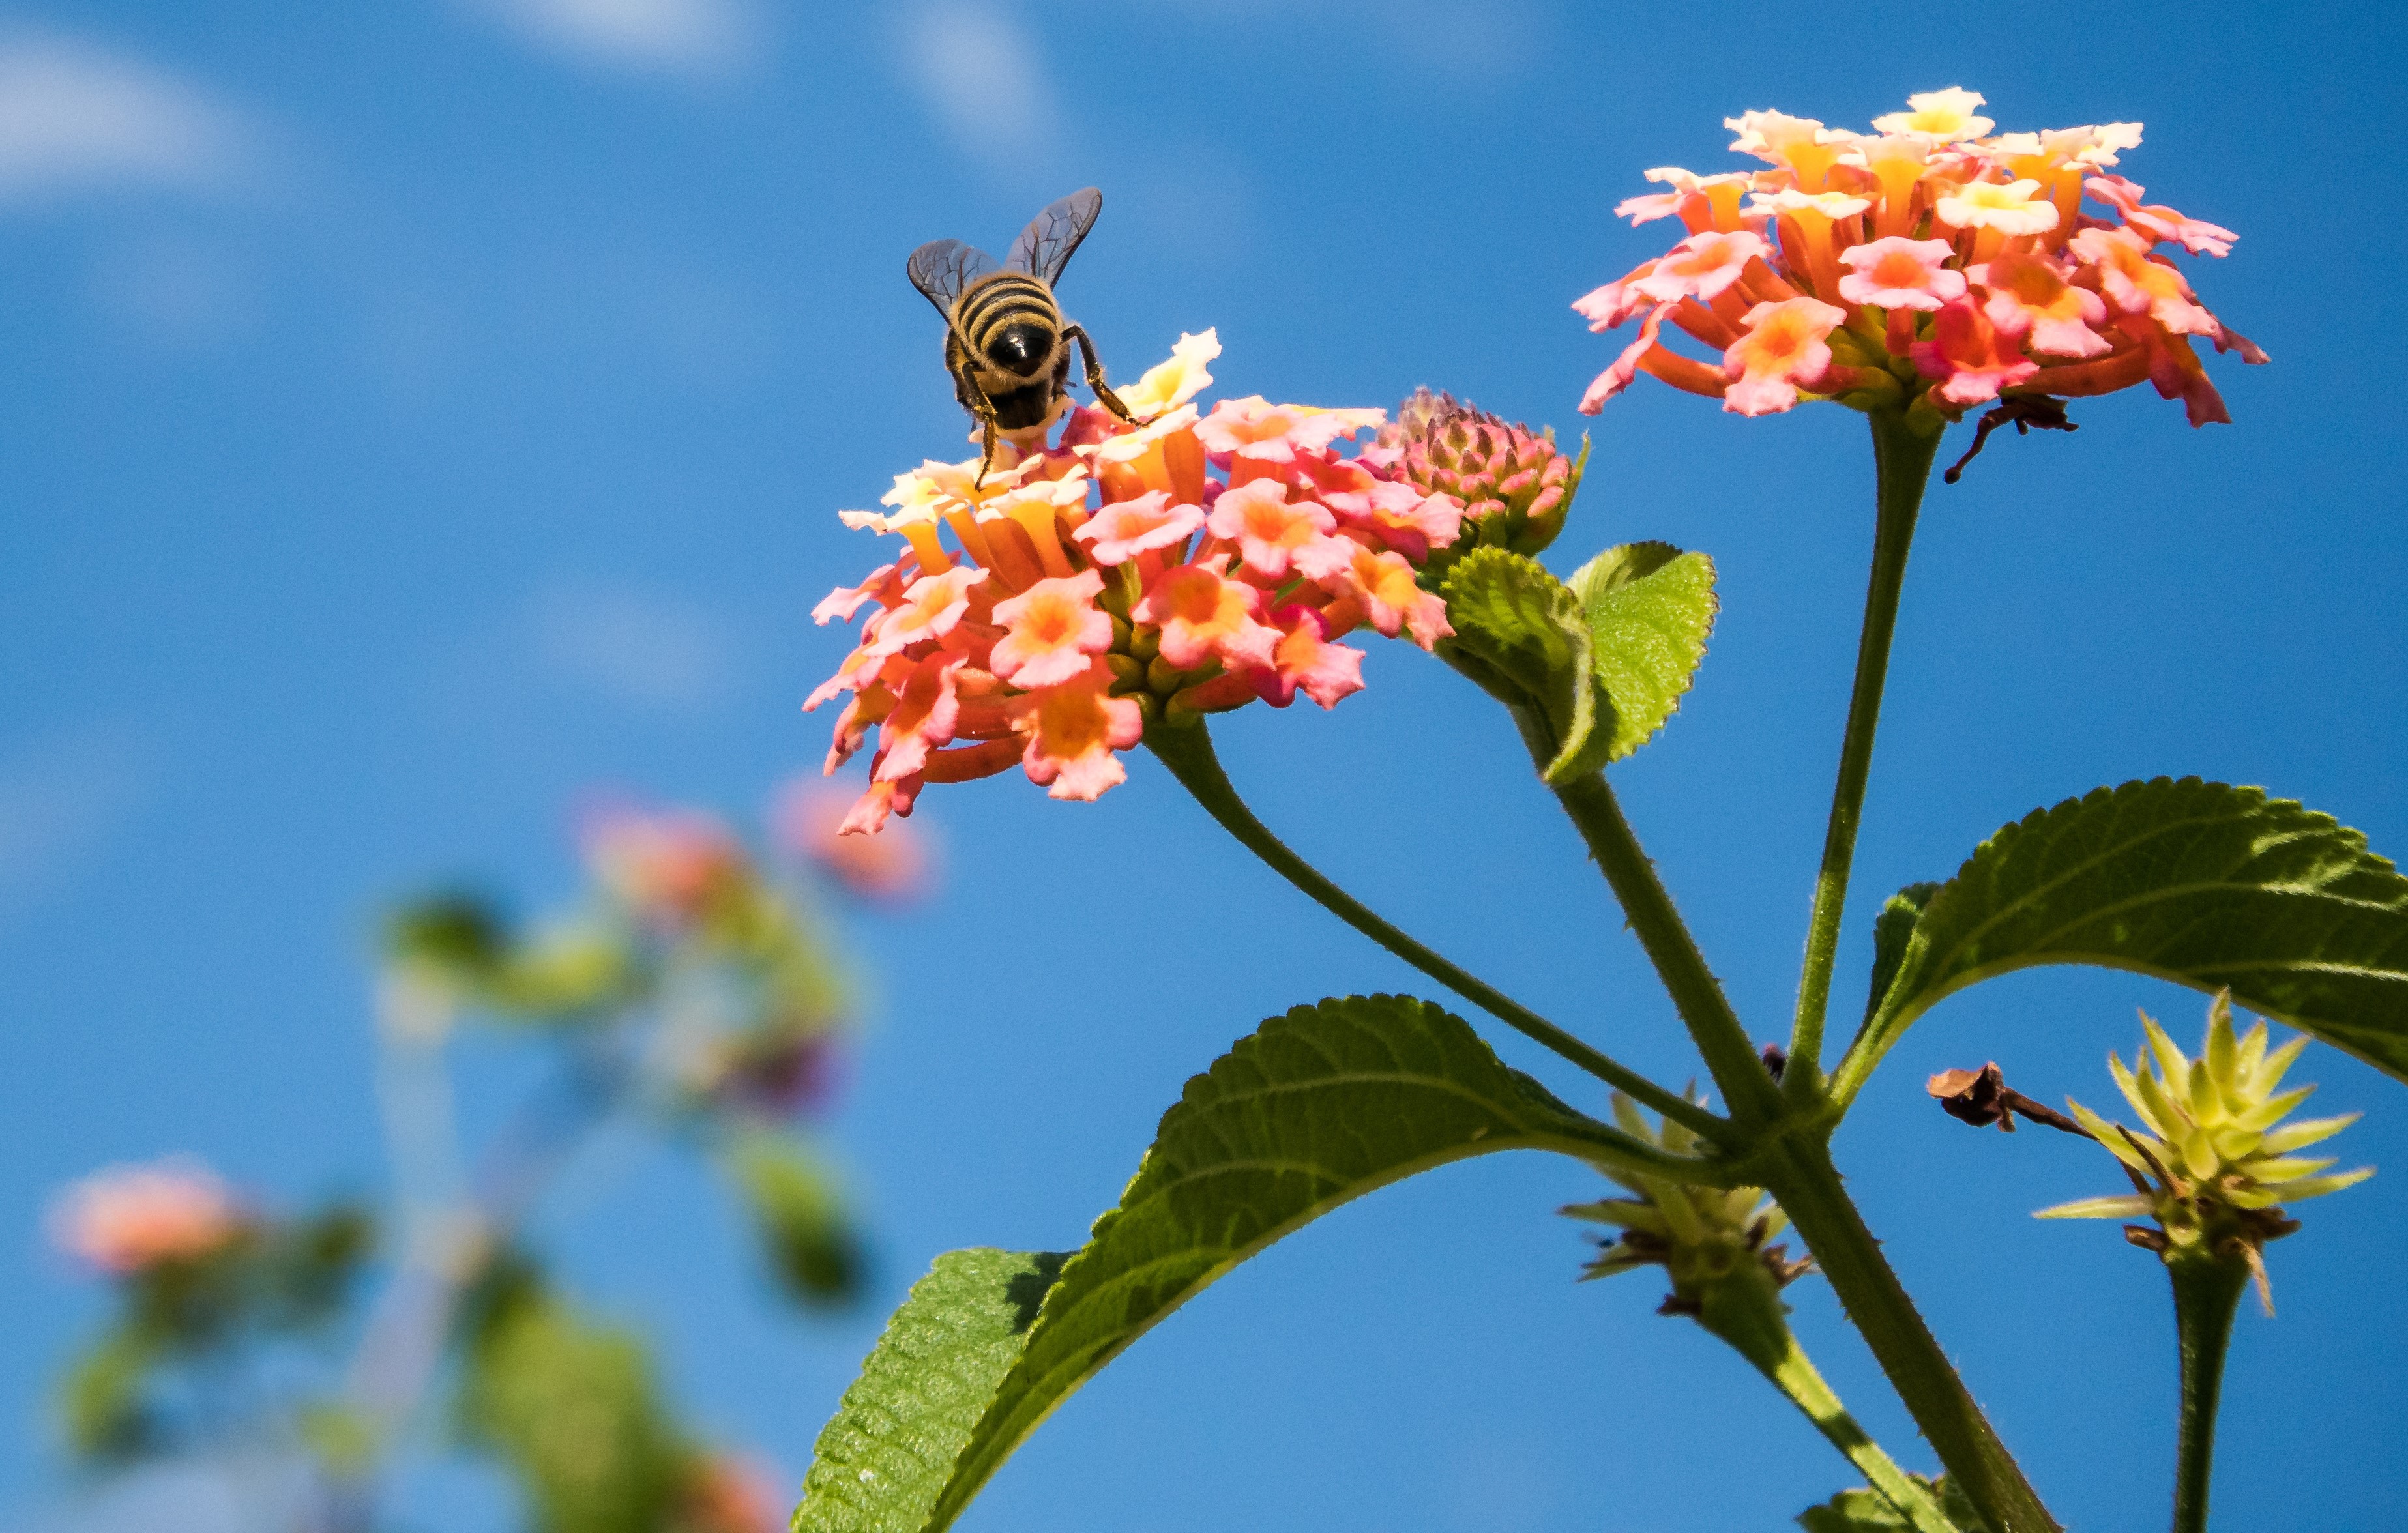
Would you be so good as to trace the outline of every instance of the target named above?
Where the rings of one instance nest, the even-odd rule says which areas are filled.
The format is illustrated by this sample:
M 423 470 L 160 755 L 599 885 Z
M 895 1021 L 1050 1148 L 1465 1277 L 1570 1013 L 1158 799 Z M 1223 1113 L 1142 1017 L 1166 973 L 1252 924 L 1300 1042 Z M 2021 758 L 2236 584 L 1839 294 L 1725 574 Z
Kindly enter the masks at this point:
M 0 756 L 0 917 L 106 847 L 152 777 L 152 753 L 123 724 L 53 729 Z

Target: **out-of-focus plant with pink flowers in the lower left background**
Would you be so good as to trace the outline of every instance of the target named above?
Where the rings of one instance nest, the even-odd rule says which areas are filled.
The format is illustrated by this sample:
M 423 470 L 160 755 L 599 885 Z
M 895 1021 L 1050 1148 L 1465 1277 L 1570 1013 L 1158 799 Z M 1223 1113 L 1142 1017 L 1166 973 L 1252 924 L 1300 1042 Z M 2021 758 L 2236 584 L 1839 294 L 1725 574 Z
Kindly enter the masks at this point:
M 932 869 L 908 833 L 838 837 L 843 811 L 797 782 L 756 852 L 715 816 L 607 801 L 583 816 L 588 893 L 571 907 L 525 924 L 462 893 L 395 910 L 378 1037 L 390 1220 L 347 1198 L 287 1213 L 190 1158 L 63 1189 L 53 1244 L 116 1288 L 63 1386 L 77 1456 L 282 1456 L 320 1487 L 308 1526 L 368 1528 L 378 1473 L 448 1384 L 455 1442 L 513 1473 L 535 1528 L 780 1528 L 775 1480 L 681 1427 L 645 1343 L 566 1297 L 527 1232 L 597 1131 L 641 1126 L 720 1167 L 787 1297 L 860 1292 L 855 1215 L 797 1134 L 831 1105 L 852 1025 L 819 905 L 903 900 Z M 479 1025 L 532 1052 L 544 1083 L 470 1153 L 450 1044 Z

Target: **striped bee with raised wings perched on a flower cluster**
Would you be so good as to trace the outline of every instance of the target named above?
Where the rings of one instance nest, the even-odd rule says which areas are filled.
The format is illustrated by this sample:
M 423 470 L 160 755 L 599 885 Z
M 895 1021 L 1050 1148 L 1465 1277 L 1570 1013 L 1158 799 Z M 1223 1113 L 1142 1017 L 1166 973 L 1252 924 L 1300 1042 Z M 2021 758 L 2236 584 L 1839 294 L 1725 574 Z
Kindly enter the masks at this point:
M 1122 421 L 1127 404 L 1103 383 L 1096 342 L 1062 318 L 1052 284 L 1103 212 L 1103 193 L 1076 190 L 1028 219 L 1002 265 L 961 241 L 929 241 L 910 253 L 910 284 L 944 315 L 944 371 L 954 397 L 982 428 L 978 484 L 995 464 L 995 438 L 1026 448 L 1040 440 L 1069 399 L 1069 349 L 1079 344 L 1086 385 Z

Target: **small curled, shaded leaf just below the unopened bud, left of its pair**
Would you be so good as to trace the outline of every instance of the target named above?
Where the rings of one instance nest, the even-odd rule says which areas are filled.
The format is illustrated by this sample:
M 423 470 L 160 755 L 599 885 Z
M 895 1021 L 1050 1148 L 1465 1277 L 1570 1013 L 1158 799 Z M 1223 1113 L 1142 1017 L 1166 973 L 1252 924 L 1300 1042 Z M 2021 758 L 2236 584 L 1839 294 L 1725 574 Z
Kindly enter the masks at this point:
M 1515 712 L 1539 775 L 1570 782 L 1606 763 L 1611 703 L 1580 599 L 1536 558 L 1474 549 L 1445 580 L 1454 638 L 1440 655 Z

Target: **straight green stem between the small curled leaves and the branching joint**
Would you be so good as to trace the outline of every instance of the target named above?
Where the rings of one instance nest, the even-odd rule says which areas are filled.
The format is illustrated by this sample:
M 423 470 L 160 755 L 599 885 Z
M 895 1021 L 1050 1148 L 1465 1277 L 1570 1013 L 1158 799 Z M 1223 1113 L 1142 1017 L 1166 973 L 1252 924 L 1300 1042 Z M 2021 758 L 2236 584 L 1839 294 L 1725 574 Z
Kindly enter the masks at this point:
M 1664 881 L 1657 878 L 1654 864 L 1647 862 L 1647 852 L 1630 833 L 1630 821 L 1623 818 L 1606 775 L 1575 777 L 1556 789 L 1556 799 L 1572 816 L 1580 840 L 1589 845 L 1589 857 L 1613 886 L 1623 917 L 1630 919 L 1647 960 L 1654 963 L 1664 989 L 1671 992 L 1671 1004 L 1688 1023 L 1698 1052 L 1705 1054 L 1705 1069 L 1714 1073 L 1714 1085 L 1731 1105 L 1731 1117 L 1741 1124 L 1763 1124 L 1777 1117 L 1782 1109 L 1780 1088 L 1765 1073 L 1765 1061 L 1755 1054 L 1748 1030 L 1722 994 L 1722 982 L 1705 967 L 1698 941 L 1688 934 Z

